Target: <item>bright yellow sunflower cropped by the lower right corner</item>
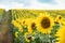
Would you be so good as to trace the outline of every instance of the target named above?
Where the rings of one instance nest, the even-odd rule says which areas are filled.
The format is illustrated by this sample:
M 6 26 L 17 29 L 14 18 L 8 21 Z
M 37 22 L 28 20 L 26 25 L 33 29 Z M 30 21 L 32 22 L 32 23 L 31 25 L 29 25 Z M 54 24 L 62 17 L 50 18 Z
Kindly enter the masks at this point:
M 58 37 L 58 38 L 57 38 L 58 42 L 56 42 L 56 43 L 65 43 L 65 27 L 64 27 L 64 26 L 61 27 L 61 28 L 57 30 L 57 32 L 56 32 L 55 35 Z

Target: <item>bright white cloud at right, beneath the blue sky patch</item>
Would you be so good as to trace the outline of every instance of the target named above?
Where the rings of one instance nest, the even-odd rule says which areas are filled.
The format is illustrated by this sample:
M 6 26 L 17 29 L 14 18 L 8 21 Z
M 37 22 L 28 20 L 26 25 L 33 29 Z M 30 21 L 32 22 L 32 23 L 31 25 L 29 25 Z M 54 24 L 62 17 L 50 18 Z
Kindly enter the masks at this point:
M 61 2 L 60 0 L 55 0 L 56 4 L 49 4 L 49 3 L 40 3 L 37 0 L 32 0 L 30 2 L 30 6 L 27 6 L 28 9 L 43 9 L 43 10 L 64 10 L 65 6 L 63 1 Z

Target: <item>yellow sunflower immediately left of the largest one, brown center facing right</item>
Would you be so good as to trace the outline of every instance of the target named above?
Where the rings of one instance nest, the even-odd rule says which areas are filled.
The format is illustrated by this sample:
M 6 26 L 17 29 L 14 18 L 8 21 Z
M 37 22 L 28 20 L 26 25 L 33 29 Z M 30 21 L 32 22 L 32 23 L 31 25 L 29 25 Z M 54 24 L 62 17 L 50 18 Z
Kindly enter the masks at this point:
M 36 30 L 36 24 L 34 18 L 28 18 L 26 24 L 27 24 L 28 32 L 32 32 L 34 30 Z

